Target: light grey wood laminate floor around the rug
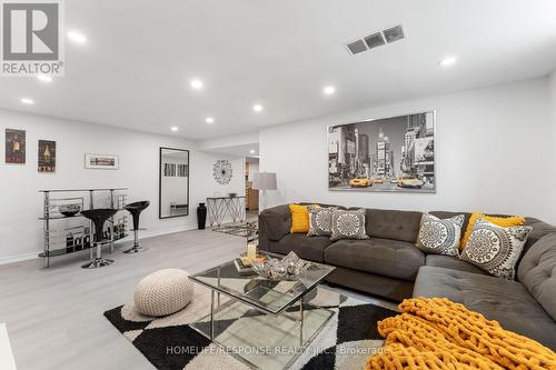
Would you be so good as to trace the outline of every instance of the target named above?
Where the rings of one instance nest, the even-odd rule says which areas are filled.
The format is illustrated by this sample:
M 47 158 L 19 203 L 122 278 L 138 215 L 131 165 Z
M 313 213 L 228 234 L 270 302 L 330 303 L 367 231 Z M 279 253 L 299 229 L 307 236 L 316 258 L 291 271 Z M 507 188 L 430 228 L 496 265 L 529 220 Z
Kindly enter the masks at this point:
M 132 299 L 146 274 L 180 268 L 190 273 L 245 250 L 245 239 L 193 230 L 141 240 L 145 253 L 123 254 L 109 267 L 85 270 L 89 253 L 0 266 L 0 322 L 6 322 L 18 370 L 152 370 L 153 367 L 105 319 L 106 310 Z M 385 307 L 394 304 L 349 293 Z M 217 369 L 215 369 L 217 370 Z

